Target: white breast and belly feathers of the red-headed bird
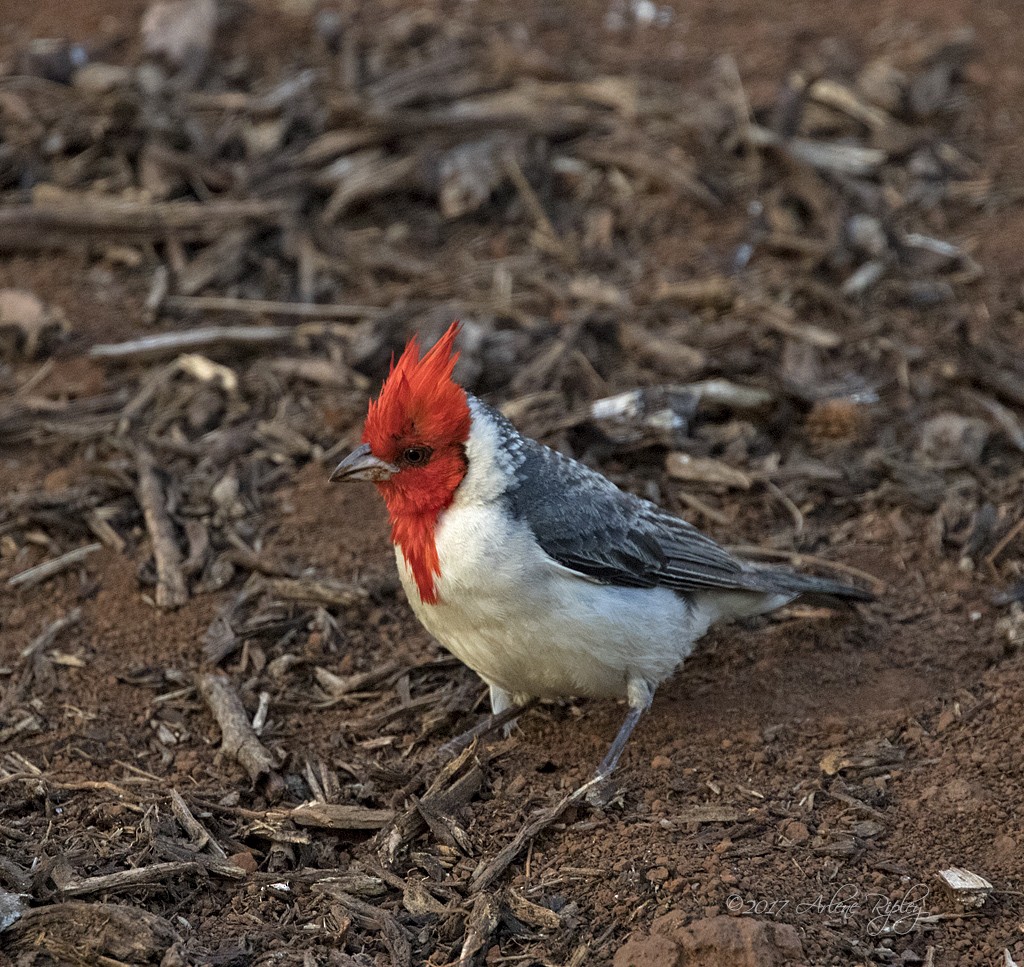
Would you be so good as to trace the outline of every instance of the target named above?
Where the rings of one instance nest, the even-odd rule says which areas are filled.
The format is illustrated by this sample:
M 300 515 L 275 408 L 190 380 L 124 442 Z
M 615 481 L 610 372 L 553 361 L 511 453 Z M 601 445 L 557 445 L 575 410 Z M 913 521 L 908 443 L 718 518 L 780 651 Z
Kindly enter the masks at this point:
M 672 674 L 718 617 L 665 588 L 620 588 L 549 558 L 494 505 L 453 507 L 435 533 L 438 603 L 398 572 L 424 627 L 488 684 L 518 696 L 618 697 Z

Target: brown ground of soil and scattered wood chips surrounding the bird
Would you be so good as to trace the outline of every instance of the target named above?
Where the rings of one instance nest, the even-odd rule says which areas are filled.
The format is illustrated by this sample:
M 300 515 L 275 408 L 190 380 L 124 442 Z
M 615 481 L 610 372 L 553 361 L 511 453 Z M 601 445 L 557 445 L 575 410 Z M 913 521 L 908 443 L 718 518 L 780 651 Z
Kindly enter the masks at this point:
M 0 20 L 0 952 L 1024 957 L 1016 2 Z M 374 494 L 327 475 L 453 319 L 525 432 L 882 595 L 710 636 L 617 805 L 487 889 L 618 713 L 546 706 L 454 799 L 421 788 L 480 689 L 411 620 Z M 265 758 L 215 757 L 227 693 Z M 918 883 L 906 929 L 795 913 Z

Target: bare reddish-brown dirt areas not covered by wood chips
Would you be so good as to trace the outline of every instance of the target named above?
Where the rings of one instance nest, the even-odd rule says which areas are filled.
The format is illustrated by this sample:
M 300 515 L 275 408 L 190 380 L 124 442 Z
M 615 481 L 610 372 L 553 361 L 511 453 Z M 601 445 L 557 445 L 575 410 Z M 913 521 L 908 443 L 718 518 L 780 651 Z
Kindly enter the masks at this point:
M 115 0 L 83 0 L 74 8 L 45 0 L 31 7 L 8 4 L 0 15 L 0 49 L 15 49 L 30 37 L 92 39 L 111 28 L 112 18 L 134 36 L 143 6 Z M 573 48 L 592 45 L 592 58 L 609 70 L 633 65 L 640 72 L 675 72 L 688 84 L 712 59 L 731 52 L 752 99 L 773 90 L 797 52 L 821 38 L 870 47 L 882 37 L 905 34 L 910 42 L 936 29 L 971 25 L 980 49 L 972 83 L 982 102 L 981 146 L 989 170 L 1020 188 L 1024 65 L 1016 0 L 700 0 L 675 4 L 671 29 L 637 31 L 614 42 L 600 26 L 601 4 L 525 7 L 517 15 L 540 25 L 539 42 L 549 52 L 571 57 Z M 275 11 L 260 17 L 247 30 L 268 45 L 278 42 L 281 23 L 292 23 Z M 685 238 L 653 239 L 651 254 L 699 276 L 720 267 L 742 230 L 742 219 L 719 223 L 697 216 Z M 974 303 L 963 310 L 984 309 L 987 323 L 978 325 L 988 327 L 986 335 L 1024 351 L 1024 208 L 993 206 L 968 215 L 956 236 L 970 242 L 986 270 Z M 80 348 L 140 329 L 144 283 L 99 275 L 71 256 L 0 261 L 0 288 L 33 289 L 73 308 Z M 942 362 L 948 348 L 938 336 L 911 335 Z M 67 359 L 38 391 L 88 395 L 104 378 L 101 367 Z M 70 448 L 11 450 L 0 456 L 0 488 L 65 486 L 76 472 Z M 269 558 L 339 578 L 391 580 L 386 520 L 371 490 L 336 489 L 322 466 L 309 464 L 278 497 L 278 507 L 268 511 L 275 514 L 264 548 Z M 847 508 L 835 516 L 839 527 L 828 512 L 809 524 L 831 535 L 828 555 L 877 576 L 888 592 L 847 616 L 798 609 L 710 634 L 659 691 L 628 748 L 618 775 L 622 802 L 603 812 L 567 814 L 537 841 L 525 864 L 511 869 L 512 887 L 543 887 L 544 896 L 575 905 L 567 918 L 572 929 L 552 937 L 545 959 L 516 961 L 496 945 L 488 963 L 568 963 L 581 944 L 589 944 L 584 959 L 572 963 L 610 963 L 633 931 L 642 937 L 669 912 L 697 919 L 737 910 L 795 926 L 808 963 L 916 964 L 930 957 L 927 962 L 936 965 L 994 967 L 1004 963 L 1004 950 L 1024 962 L 1024 658 L 998 624 L 1007 609 L 992 603 L 992 593 L 1000 585 L 987 573 L 961 570 L 955 554 L 937 546 L 929 514 L 907 509 L 858 516 Z M 777 504 L 759 496 L 736 511 L 728 531 L 696 522 L 731 543 L 761 543 L 786 519 Z M 1015 547 L 1010 556 L 1019 556 L 1020 544 Z M 226 794 L 226 781 L 248 796 L 242 770 L 216 758 L 216 727 L 198 700 L 159 708 L 152 701 L 168 690 L 160 673 L 188 673 L 200 664 L 203 635 L 224 597 L 197 597 L 180 612 L 159 612 L 140 596 L 136 564 L 103 550 L 89 559 L 84 579 L 75 572 L 42 591 L 0 592 L 0 666 L 14 665 L 18 650 L 48 622 L 75 605 L 84 612 L 60 645 L 80 663 L 57 670 L 48 728 L 4 741 L 0 754 L 16 752 L 73 783 L 133 789 L 133 776 L 145 782 L 143 774 L 156 775 L 159 786 L 140 793 L 142 800 L 151 797 L 146 802 L 155 788 L 189 784 L 220 784 Z M 0 552 L 0 580 L 24 566 Z M 400 594 L 343 635 L 351 656 L 346 671 L 382 659 L 413 664 L 441 654 Z M 306 657 L 329 668 L 339 662 L 330 654 Z M 452 674 L 472 681 L 464 669 Z M 622 714 L 610 702 L 546 705 L 526 715 L 511 739 L 493 743 L 490 796 L 472 804 L 467 821 L 477 856 L 493 855 L 524 815 L 583 781 Z M 344 706 L 274 705 L 264 738 L 309 759 L 345 761 L 358 741 L 345 730 L 349 715 Z M 158 721 L 185 735 L 172 753 L 155 739 Z M 447 735 L 445 727 L 435 741 Z M 850 808 L 824 791 L 824 776 L 837 769 L 849 795 L 870 809 Z M 835 783 L 827 788 L 838 790 Z M 0 802 L 9 795 L 11 787 L 0 787 Z M 713 835 L 706 825 L 677 822 L 696 805 L 729 807 L 740 819 L 710 827 Z M 76 869 L 82 846 L 77 829 L 99 829 L 116 839 L 122 824 L 138 822 L 130 805 L 112 805 L 85 787 L 66 792 L 59 803 L 26 793 L 15 812 L 33 808 L 51 817 L 44 851 L 67 854 Z M 0 852 L 3 835 L 0 825 Z M 357 856 L 358 845 L 342 840 L 331 848 L 347 859 Z M 982 909 L 962 910 L 943 894 L 936 873 L 948 867 L 969 869 L 995 885 Z M 105 870 L 101 860 L 90 860 L 87 872 Z M 179 895 L 173 908 L 154 898 L 153 909 L 167 917 L 180 910 L 191 935 L 210 950 L 247 940 L 253 963 L 333 963 L 321 948 L 307 950 L 311 961 L 303 959 L 301 934 L 281 923 L 288 920 L 288 905 L 260 889 L 244 881 L 209 881 L 190 898 Z M 866 913 L 879 903 L 876 894 L 896 901 L 913 890 L 921 909 L 901 921 L 906 930 L 880 933 L 874 914 Z M 158 894 L 154 889 L 151 896 Z M 836 908 L 822 909 L 834 897 L 854 894 L 859 910 L 846 919 Z M 2 947 L 0 938 L 0 963 Z M 891 961 L 880 953 L 885 950 Z M 646 967 L 658 967 L 654 957 Z M 377 962 L 386 963 L 386 955 L 378 953 Z

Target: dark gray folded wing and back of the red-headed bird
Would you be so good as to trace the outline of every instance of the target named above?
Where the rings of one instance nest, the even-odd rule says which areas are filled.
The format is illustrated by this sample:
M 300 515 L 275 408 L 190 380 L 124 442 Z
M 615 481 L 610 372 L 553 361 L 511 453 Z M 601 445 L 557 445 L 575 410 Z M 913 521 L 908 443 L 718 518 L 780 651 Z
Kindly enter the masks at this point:
M 558 563 L 626 587 L 764 589 L 753 569 L 692 524 L 521 436 L 490 413 L 514 456 L 515 482 L 504 495 L 509 509 Z

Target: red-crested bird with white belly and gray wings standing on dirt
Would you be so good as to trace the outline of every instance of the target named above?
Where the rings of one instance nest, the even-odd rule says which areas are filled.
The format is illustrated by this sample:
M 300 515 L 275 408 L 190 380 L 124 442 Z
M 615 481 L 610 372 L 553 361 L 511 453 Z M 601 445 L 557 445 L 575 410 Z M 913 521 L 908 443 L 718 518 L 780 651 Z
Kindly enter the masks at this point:
M 414 336 L 331 480 L 384 499 L 416 617 L 489 689 L 493 715 L 536 699 L 625 699 L 593 782 L 608 780 L 655 689 L 721 621 L 849 584 L 741 560 L 688 521 L 521 434 L 453 378 L 459 323 Z

